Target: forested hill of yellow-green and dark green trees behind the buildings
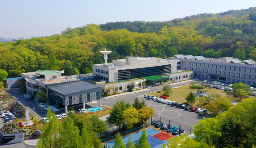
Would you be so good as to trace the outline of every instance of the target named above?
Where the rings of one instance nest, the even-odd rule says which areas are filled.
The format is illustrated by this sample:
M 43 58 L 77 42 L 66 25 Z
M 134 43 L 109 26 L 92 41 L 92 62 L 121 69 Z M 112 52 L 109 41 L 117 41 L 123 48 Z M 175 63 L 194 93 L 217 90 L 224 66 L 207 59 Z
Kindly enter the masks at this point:
M 93 64 L 103 63 L 99 51 L 104 47 L 112 51 L 108 62 L 130 54 L 256 60 L 256 8 L 204 13 L 168 22 L 90 24 L 68 27 L 59 35 L 0 42 L 0 69 L 6 70 L 8 77 L 40 69 L 63 69 L 65 75 L 89 73 Z

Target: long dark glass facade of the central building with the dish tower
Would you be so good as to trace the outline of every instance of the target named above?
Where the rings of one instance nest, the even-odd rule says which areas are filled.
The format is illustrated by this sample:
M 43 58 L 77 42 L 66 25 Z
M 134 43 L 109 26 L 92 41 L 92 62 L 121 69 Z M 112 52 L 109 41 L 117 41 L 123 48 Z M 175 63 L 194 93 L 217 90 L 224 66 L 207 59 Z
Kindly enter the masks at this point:
M 171 64 L 155 67 L 118 70 L 118 81 L 147 76 L 156 76 L 168 72 L 171 72 Z

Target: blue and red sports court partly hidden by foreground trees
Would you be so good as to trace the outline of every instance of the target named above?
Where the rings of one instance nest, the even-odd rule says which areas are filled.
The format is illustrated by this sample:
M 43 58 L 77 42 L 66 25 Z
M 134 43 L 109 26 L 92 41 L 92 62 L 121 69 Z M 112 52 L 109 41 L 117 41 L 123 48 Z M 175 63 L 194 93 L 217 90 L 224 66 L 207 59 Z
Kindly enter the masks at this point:
M 168 143 L 168 139 L 169 138 L 172 138 L 172 136 L 167 135 L 165 133 L 162 133 L 161 131 L 156 130 L 156 129 L 152 128 L 152 127 L 146 128 L 145 130 L 147 131 L 148 142 L 151 145 L 151 148 L 161 148 L 163 144 L 167 144 Z M 132 140 L 133 140 L 134 144 L 136 142 L 139 144 L 141 132 L 142 131 L 138 131 L 138 132 L 135 132 L 135 133 L 131 134 Z M 128 143 L 128 137 L 129 136 L 130 135 L 122 137 L 122 140 L 123 140 L 124 144 Z M 109 142 L 107 142 L 107 143 L 105 143 L 103 145 L 106 145 L 106 146 L 109 146 L 109 148 L 112 148 L 113 145 L 114 145 L 114 140 L 109 141 Z

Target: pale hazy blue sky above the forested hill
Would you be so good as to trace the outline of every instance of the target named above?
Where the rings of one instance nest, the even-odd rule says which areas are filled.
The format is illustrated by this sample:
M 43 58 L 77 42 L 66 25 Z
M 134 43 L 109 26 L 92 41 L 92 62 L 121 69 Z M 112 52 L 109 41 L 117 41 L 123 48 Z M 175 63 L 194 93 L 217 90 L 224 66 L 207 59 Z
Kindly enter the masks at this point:
M 169 21 L 255 6 L 256 0 L 0 0 L 0 37 L 51 36 L 91 23 Z

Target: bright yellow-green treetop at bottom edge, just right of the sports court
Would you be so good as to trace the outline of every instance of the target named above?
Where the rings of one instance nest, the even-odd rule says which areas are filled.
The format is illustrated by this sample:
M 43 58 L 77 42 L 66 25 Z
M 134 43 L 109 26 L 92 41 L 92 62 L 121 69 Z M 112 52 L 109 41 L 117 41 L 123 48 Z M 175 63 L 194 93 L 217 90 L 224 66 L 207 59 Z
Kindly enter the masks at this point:
M 194 139 L 188 135 L 183 134 L 176 138 L 168 139 L 168 144 L 163 144 L 162 148 L 197 148 Z

